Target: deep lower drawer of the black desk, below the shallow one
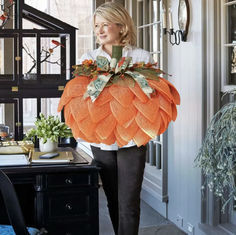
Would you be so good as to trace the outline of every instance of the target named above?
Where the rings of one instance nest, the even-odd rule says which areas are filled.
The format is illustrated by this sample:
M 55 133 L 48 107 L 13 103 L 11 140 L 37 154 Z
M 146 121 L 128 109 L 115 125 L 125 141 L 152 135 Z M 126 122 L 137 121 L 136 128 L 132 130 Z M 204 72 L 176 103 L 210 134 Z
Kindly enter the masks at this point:
M 97 188 L 81 190 L 39 192 L 36 194 L 37 217 L 44 226 L 47 223 L 70 222 L 98 215 Z

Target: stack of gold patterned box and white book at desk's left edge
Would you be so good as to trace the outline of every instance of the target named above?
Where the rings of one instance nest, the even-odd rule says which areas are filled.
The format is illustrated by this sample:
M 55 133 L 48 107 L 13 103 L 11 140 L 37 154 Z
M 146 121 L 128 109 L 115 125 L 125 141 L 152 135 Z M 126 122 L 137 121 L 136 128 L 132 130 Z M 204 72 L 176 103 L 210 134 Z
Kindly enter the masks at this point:
M 33 148 L 32 141 L 0 142 L 0 166 L 30 164 L 29 153 Z

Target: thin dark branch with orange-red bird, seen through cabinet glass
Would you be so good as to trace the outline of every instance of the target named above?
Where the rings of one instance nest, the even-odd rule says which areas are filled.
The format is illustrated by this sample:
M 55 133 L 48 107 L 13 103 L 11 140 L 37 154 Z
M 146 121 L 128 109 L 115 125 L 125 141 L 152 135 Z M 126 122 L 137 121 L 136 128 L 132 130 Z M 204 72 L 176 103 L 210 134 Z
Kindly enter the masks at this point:
M 48 60 L 48 58 L 52 55 L 52 53 L 54 52 L 54 50 L 61 46 L 61 47 L 64 47 L 60 42 L 56 41 L 56 40 L 52 40 L 51 41 L 55 46 L 52 47 L 52 48 L 49 48 L 49 49 L 44 49 L 42 48 L 41 52 L 40 52 L 40 64 L 43 63 L 43 62 L 46 62 L 46 63 L 49 63 L 49 64 L 57 64 L 59 66 L 61 66 L 60 64 L 60 60 L 61 59 L 58 59 L 56 61 L 50 61 Z M 25 44 L 25 47 L 23 46 L 22 49 L 26 52 L 26 54 L 32 59 L 32 62 L 33 62 L 33 65 L 32 67 L 29 69 L 29 71 L 27 73 L 31 73 L 32 70 L 36 67 L 37 65 L 37 60 L 31 55 L 31 52 L 30 52 L 30 49 L 29 47 Z

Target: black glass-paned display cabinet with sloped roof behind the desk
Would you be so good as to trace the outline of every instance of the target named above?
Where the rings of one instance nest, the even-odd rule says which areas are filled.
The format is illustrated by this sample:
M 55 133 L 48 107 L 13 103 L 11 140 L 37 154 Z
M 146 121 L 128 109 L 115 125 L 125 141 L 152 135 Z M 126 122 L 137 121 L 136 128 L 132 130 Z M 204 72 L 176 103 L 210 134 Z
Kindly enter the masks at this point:
M 2 5 L 8 10 L 9 22 L 5 20 L 0 25 L 0 105 L 5 100 L 14 100 L 17 106 L 14 137 L 19 140 L 23 138 L 23 99 L 35 98 L 39 115 L 41 98 L 60 97 L 72 78 L 76 28 L 25 4 L 24 0 L 15 0 L 7 8 L 10 2 Z M 35 28 L 24 27 L 26 21 Z

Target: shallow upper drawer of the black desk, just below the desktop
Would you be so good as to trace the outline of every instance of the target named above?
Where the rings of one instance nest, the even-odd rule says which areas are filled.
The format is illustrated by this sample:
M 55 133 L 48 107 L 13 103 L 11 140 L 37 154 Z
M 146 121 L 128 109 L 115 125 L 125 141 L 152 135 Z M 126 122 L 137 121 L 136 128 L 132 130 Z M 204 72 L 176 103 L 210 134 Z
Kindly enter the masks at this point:
M 92 175 L 87 172 L 77 174 L 48 174 L 45 176 L 45 186 L 47 188 L 90 186 L 92 184 L 91 179 Z

